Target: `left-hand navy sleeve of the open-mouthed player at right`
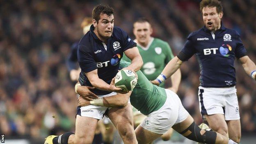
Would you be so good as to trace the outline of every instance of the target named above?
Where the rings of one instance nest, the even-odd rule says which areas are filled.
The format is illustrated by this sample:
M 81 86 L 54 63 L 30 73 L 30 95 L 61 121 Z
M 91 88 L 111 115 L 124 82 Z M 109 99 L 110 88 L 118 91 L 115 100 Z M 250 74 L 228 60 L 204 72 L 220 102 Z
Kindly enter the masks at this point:
M 192 40 L 192 33 L 187 37 L 187 41 L 184 45 L 184 47 L 182 48 L 181 52 L 177 55 L 177 57 L 179 59 L 181 59 L 181 61 L 187 61 L 188 59 L 190 59 L 190 57 L 192 57 L 195 53 L 195 48 L 194 48 L 194 44 L 193 44 L 193 40 Z

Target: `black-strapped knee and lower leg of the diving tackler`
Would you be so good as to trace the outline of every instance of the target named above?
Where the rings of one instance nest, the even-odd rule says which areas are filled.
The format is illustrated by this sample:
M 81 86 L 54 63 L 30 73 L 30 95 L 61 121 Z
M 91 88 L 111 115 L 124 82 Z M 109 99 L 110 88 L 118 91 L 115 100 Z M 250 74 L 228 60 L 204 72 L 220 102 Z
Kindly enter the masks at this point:
M 217 137 L 217 134 L 213 131 L 201 131 L 194 122 L 180 134 L 193 141 L 207 144 L 215 144 Z

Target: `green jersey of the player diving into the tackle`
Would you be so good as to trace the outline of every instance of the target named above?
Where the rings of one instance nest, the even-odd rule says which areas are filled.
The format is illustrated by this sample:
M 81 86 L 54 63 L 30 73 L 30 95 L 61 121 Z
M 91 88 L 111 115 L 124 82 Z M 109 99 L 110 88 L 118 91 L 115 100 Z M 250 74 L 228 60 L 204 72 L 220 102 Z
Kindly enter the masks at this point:
M 130 62 L 121 59 L 121 69 L 129 65 Z M 138 81 L 130 96 L 130 103 L 142 114 L 148 115 L 159 110 L 165 104 L 167 95 L 164 88 L 153 85 L 141 71 L 136 73 Z

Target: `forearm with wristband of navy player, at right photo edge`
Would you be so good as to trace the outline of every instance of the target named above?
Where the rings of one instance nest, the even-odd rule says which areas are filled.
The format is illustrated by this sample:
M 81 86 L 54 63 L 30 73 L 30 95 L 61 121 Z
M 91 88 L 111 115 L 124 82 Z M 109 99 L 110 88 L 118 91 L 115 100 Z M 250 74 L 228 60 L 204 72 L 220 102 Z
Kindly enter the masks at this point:
M 256 80 L 256 65 L 254 64 L 254 62 L 252 62 L 247 55 L 241 57 L 239 61 L 245 69 L 245 72 L 254 80 Z

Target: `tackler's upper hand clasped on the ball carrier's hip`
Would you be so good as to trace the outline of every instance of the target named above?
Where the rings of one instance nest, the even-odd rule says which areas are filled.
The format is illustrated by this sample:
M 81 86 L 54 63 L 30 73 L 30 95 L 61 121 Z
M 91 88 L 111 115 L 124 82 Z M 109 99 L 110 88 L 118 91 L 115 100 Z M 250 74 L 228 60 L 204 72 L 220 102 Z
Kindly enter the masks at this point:
M 97 99 L 98 96 L 90 91 L 90 89 L 94 89 L 95 87 L 89 86 L 78 86 L 77 93 L 82 97 L 85 98 L 87 101 L 93 101 L 93 99 Z

